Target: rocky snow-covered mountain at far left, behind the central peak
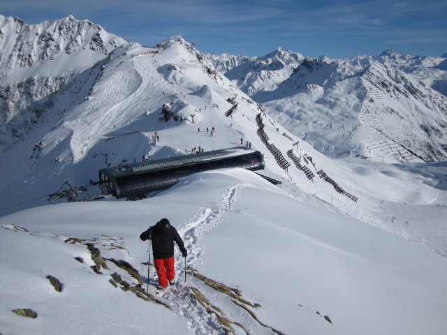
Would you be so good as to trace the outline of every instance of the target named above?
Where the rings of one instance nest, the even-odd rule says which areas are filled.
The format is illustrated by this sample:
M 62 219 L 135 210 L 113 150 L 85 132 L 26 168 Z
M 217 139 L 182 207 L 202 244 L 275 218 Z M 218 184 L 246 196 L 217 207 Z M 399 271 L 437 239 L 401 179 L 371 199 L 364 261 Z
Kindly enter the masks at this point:
M 1 149 L 24 140 L 50 115 L 64 117 L 82 103 L 101 76 L 98 62 L 124 43 L 73 16 L 30 25 L 0 15 Z

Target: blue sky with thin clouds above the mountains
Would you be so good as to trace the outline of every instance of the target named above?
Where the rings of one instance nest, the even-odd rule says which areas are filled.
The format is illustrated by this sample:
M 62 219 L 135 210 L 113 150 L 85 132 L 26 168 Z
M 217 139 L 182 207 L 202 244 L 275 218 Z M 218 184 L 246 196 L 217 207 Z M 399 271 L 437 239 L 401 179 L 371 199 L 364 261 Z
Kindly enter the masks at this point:
M 330 58 L 447 52 L 447 0 L 0 0 L 0 14 L 27 24 L 71 14 L 129 42 L 182 35 L 213 54 L 255 57 L 279 46 Z

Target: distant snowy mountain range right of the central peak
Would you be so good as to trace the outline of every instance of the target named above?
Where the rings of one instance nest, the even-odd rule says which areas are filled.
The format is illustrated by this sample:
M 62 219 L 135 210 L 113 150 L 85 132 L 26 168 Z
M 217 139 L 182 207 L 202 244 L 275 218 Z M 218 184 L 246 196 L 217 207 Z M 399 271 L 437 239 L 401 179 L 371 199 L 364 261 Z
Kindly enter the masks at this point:
M 304 59 L 279 49 L 228 68 L 228 55 L 209 58 L 275 121 L 328 156 L 389 163 L 446 160 L 443 57 L 387 51 Z

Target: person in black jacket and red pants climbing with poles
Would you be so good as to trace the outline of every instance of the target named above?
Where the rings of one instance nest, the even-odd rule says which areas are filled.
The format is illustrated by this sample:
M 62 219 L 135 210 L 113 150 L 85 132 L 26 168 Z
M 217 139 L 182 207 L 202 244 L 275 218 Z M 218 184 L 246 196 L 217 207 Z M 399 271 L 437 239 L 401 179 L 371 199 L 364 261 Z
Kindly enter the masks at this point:
M 152 241 L 152 254 L 154 255 L 154 267 L 159 276 L 159 285 L 157 290 L 163 290 L 169 285 L 175 284 L 174 270 L 174 241 L 179 246 L 182 256 L 186 257 L 188 251 L 184 247 L 177 230 L 170 225 L 167 218 L 162 218 L 156 225 L 149 227 L 148 230 L 140 234 L 140 239 Z

